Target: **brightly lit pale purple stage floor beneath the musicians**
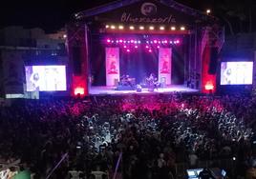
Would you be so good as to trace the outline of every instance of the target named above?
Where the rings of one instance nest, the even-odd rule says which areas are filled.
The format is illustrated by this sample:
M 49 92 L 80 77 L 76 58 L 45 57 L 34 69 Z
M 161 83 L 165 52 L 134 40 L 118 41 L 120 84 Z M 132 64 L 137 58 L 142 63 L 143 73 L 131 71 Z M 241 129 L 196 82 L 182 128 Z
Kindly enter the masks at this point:
M 120 94 L 146 94 L 146 93 L 172 93 L 172 92 L 199 92 L 199 89 L 189 89 L 182 85 L 172 85 L 170 87 L 155 89 L 154 91 L 148 91 L 148 89 L 142 89 L 141 92 L 137 90 L 115 90 L 117 87 L 91 87 L 89 93 L 92 95 L 120 95 Z

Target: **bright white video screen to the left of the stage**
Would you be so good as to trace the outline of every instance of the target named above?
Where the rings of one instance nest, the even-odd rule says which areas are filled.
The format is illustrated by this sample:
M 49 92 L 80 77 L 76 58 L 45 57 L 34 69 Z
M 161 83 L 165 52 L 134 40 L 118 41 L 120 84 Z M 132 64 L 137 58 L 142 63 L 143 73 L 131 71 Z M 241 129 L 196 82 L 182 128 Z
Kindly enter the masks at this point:
M 67 90 L 65 66 L 26 66 L 27 91 Z

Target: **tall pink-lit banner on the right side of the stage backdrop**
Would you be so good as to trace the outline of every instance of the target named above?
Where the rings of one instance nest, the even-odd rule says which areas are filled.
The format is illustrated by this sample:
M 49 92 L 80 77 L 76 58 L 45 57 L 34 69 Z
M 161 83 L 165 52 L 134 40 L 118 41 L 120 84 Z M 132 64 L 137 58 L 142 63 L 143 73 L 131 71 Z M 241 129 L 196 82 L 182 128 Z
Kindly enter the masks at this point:
M 159 82 L 161 86 L 171 85 L 172 49 L 160 48 L 159 51 Z

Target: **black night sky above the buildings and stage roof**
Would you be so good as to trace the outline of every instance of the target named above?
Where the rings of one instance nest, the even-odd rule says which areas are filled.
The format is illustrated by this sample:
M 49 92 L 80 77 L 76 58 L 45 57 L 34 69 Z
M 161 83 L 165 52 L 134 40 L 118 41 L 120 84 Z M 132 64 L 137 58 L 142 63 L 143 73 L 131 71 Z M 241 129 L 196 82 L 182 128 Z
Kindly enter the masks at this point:
M 73 13 L 80 10 L 91 9 L 112 1 L 113 0 L 64 0 L 61 2 L 54 0 L 8 0 L 1 3 L 0 28 L 20 25 L 25 28 L 39 27 L 47 32 L 53 32 L 54 30 L 64 27 Z M 211 8 L 213 14 L 214 7 L 224 1 L 228 0 L 177 0 L 177 2 L 197 10 L 204 11 L 207 8 Z M 239 0 L 233 0 L 231 2 L 234 4 L 236 1 Z

